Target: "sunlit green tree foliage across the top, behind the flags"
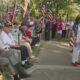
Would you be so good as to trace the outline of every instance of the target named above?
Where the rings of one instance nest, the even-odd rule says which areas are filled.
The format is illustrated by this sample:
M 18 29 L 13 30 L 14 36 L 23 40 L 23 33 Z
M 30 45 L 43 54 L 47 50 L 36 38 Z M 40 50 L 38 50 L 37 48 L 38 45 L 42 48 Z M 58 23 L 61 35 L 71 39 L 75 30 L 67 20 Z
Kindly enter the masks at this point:
M 0 7 L 0 16 L 3 16 L 6 11 L 6 3 L 5 0 L 3 1 L 4 4 Z M 10 7 L 13 6 L 13 2 L 14 0 L 8 1 Z M 53 14 L 57 15 L 58 11 L 58 14 L 63 19 L 66 19 L 67 16 L 68 19 L 74 19 L 80 12 L 80 7 L 78 6 L 80 5 L 80 0 L 30 0 L 31 16 L 37 17 L 41 15 L 42 4 L 46 5 L 46 13 L 48 12 L 48 9 L 52 9 Z M 17 0 L 17 5 L 23 5 L 24 7 L 24 0 Z

